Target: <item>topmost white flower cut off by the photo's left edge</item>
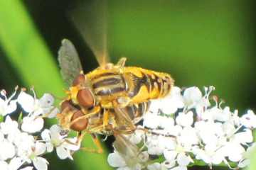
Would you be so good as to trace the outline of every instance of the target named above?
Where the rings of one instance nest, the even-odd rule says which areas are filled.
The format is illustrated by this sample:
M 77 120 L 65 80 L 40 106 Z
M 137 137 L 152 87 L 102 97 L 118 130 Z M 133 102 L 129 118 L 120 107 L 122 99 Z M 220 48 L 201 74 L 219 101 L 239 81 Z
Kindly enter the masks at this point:
M 17 88 L 16 88 L 17 90 Z M 16 100 L 12 100 L 16 94 L 16 90 L 14 91 L 14 94 L 12 94 L 9 98 L 6 96 L 6 91 L 2 90 L 1 91 L 1 98 L 0 96 L 0 115 L 7 115 L 9 113 L 12 113 L 16 110 L 17 105 L 16 105 Z

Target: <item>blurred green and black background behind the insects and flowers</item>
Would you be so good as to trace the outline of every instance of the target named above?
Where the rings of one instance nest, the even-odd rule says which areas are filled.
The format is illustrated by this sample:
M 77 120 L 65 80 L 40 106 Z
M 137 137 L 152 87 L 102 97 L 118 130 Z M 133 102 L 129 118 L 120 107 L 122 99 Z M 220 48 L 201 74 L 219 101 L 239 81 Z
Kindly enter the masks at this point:
M 0 1 L 0 89 L 35 86 L 39 96 L 50 92 L 63 97 L 57 62 L 63 38 L 75 44 L 85 72 L 97 67 L 85 28 L 95 19 L 87 15 L 88 6 L 98 14 L 101 8 L 90 8 L 91 4 Z M 128 65 L 168 72 L 180 87 L 214 85 L 214 94 L 232 111 L 256 111 L 253 6 L 254 1 L 243 0 L 109 1 L 105 18 L 111 60 L 125 56 Z M 89 137 L 85 145 L 93 146 Z M 107 152 L 80 152 L 74 162 L 55 155 L 48 157 L 50 169 L 111 169 Z

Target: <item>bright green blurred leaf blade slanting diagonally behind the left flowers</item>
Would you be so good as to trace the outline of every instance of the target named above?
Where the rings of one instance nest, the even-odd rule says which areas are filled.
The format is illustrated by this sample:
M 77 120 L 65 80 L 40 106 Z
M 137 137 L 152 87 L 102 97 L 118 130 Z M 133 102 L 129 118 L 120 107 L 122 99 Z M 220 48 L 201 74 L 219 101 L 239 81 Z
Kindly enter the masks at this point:
M 46 92 L 58 98 L 64 96 L 58 65 L 21 1 L 0 1 L 0 45 L 27 89 L 34 86 L 38 97 Z M 86 142 L 86 147 L 94 145 Z M 80 152 L 75 154 L 74 162 L 79 169 L 108 169 L 106 156 Z M 50 167 L 65 169 L 67 164 L 73 164 L 68 160 L 60 163 L 56 157 L 51 157 L 54 162 L 50 162 Z

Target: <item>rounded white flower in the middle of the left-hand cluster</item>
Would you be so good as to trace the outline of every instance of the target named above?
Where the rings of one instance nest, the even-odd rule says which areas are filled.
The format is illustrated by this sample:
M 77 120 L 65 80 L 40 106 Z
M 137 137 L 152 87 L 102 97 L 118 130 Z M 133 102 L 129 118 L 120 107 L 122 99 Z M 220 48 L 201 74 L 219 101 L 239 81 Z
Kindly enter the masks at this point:
M 25 132 L 39 132 L 43 128 L 43 118 L 35 116 L 26 116 L 22 120 L 21 129 Z

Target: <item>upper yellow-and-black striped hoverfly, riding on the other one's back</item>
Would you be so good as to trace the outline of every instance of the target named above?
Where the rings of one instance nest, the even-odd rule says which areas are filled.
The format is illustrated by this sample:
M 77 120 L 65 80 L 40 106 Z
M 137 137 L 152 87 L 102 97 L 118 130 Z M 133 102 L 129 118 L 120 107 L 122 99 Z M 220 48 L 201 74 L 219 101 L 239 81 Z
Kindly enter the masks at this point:
M 66 100 L 80 106 L 86 118 L 105 110 L 102 113 L 103 126 L 109 124 L 110 110 L 113 110 L 117 123 L 134 129 L 133 116 L 127 108 L 166 96 L 174 81 L 166 73 L 124 67 L 125 60 L 122 58 L 115 65 L 107 63 L 83 74 L 75 47 L 69 40 L 63 40 L 59 62 L 63 78 L 70 85 Z M 69 65 L 72 66 L 70 69 Z

